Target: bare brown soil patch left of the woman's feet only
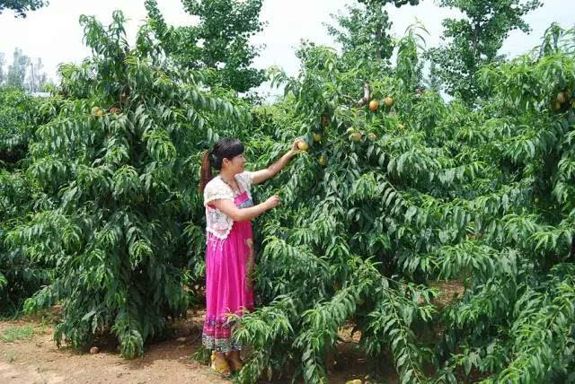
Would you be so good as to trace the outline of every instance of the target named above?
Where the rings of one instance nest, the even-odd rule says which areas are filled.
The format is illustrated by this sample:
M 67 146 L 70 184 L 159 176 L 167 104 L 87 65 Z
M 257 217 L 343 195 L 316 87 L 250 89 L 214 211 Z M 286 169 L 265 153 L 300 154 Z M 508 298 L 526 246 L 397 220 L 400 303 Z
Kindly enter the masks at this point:
M 56 383 L 225 383 L 208 366 L 191 359 L 201 341 L 201 319 L 177 324 L 173 339 L 146 345 L 142 358 L 125 360 L 111 345 L 97 345 L 99 353 L 79 353 L 57 348 L 53 327 L 37 319 L 1 321 L 0 334 L 8 327 L 34 327 L 34 336 L 13 343 L 0 341 L 0 382 L 13 384 Z M 187 335 L 187 336 L 182 336 Z M 185 337 L 182 339 L 181 337 Z

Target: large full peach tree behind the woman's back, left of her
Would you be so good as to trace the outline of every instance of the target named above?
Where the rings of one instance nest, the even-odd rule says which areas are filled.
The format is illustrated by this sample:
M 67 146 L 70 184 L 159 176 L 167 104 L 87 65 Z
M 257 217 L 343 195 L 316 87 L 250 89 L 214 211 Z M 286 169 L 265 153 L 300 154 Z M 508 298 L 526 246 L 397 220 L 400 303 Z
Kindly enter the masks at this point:
M 36 131 L 26 170 L 41 194 L 6 239 L 56 266 L 26 307 L 63 303 L 58 343 L 89 345 L 111 329 L 130 357 L 187 309 L 185 267 L 203 244 L 190 221 L 203 215 L 190 148 L 208 123 L 240 114 L 163 58 L 149 28 L 130 49 L 121 13 L 107 29 L 81 22 L 93 57 L 60 68 L 59 95 L 42 106 L 53 118 Z

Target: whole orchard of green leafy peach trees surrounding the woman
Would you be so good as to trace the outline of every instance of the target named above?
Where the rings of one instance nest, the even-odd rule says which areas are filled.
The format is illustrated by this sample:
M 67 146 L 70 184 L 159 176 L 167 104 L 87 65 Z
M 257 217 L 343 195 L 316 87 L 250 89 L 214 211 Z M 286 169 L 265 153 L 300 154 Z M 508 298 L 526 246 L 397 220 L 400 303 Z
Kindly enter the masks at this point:
M 273 103 L 189 65 L 153 1 L 134 45 L 122 13 L 83 16 L 92 55 L 49 98 L 0 90 L 0 311 L 58 304 L 57 345 L 105 334 L 142 355 L 203 305 L 201 153 L 238 137 L 259 170 L 300 138 L 253 190 L 282 204 L 254 221 L 234 380 L 329 382 L 349 325 L 402 383 L 575 380 L 575 31 L 449 83 L 421 25 L 389 36 L 386 3 L 419 1 L 358 1 L 332 27 L 342 49 L 303 43 L 296 77 L 270 69 Z M 444 281 L 463 294 L 439 300 Z

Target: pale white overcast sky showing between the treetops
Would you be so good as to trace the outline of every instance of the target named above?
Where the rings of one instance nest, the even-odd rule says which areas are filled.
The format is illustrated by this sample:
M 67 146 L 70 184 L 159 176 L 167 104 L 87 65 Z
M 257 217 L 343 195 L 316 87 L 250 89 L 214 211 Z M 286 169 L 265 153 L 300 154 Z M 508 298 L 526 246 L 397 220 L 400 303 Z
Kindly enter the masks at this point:
M 551 22 L 558 22 L 563 28 L 575 26 L 575 0 L 544 0 L 544 6 L 526 16 L 533 32 L 526 35 L 513 31 L 506 40 L 501 52 L 516 57 L 539 44 L 541 36 Z M 264 0 L 261 21 L 267 22 L 264 31 L 252 39 L 254 44 L 265 44 L 261 56 L 253 65 L 267 68 L 279 65 L 290 75 L 296 75 L 299 63 L 295 49 L 301 39 L 309 39 L 317 44 L 335 47 L 327 34 L 325 22 L 332 22 L 330 14 L 345 12 L 349 0 Z M 448 8 L 440 8 L 436 0 L 422 0 L 419 5 L 404 5 L 395 8 L 387 5 L 392 33 L 402 36 L 405 29 L 416 18 L 429 31 L 427 47 L 442 44 L 441 21 L 447 17 L 457 17 L 459 13 Z M 180 0 L 159 0 L 159 7 L 166 22 L 173 25 L 189 25 L 197 22 L 183 12 Z M 571 4 L 571 5 L 570 5 Z M 137 28 L 146 18 L 144 0 L 50 0 L 46 8 L 28 14 L 25 19 L 14 18 L 13 13 L 0 14 L 0 52 L 10 63 L 14 48 L 22 48 L 29 57 L 41 57 L 49 77 L 56 78 L 59 63 L 79 63 L 90 52 L 82 41 L 83 31 L 78 20 L 81 14 L 94 15 L 104 24 L 111 22 L 111 13 L 121 10 L 129 19 L 128 41 L 133 41 Z M 265 85 L 262 92 L 269 91 Z

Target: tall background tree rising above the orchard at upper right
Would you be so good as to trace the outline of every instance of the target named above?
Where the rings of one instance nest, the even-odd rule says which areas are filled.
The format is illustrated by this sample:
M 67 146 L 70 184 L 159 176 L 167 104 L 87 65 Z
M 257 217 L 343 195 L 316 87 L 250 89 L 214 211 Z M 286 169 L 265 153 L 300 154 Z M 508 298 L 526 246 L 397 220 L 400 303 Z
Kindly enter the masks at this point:
M 542 5 L 540 0 L 441 0 L 441 6 L 456 8 L 464 17 L 443 21 L 445 47 L 429 50 L 435 73 L 450 95 L 459 94 L 469 103 L 480 96 L 476 72 L 500 62 L 498 52 L 510 31 L 529 32 L 523 17 Z M 435 72 L 435 71 L 434 71 Z

